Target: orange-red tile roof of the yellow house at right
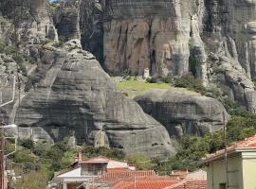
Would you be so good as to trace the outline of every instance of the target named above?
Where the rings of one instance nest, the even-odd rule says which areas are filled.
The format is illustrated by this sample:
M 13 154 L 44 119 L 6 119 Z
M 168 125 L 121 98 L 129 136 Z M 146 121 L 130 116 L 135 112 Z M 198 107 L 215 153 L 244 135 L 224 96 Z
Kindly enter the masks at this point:
M 248 150 L 255 149 L 256 150 L 256 135 L 249 137 L 244 141 L 233 143 L 227 148 L 228 152 L 236 151 L 239 149 L 248 149 Z M 222 157 L 222 155 L 224 154 L 225 154 L 225 149 L 221 149 L 216 151 L 215 153 L 208 154 L 205 159 L 205 162 L 209 162 L 211 159 L 214 159 L 216 157 Z

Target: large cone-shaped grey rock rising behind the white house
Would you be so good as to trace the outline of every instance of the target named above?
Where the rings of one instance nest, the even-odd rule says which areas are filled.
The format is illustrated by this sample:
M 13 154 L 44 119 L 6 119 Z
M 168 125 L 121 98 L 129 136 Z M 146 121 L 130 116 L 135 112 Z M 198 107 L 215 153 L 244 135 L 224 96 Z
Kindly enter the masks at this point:
M 174 154 L 167 130 L 117 91 L 79 41 L 65 43 L 63 50 L 46 47 L 41 59 L 38 75 L 43 78 L 16 114 L 24 134 L 33 130 L 32 137 L 49 141 L 75 136 L 79 144 L 150 156 Z

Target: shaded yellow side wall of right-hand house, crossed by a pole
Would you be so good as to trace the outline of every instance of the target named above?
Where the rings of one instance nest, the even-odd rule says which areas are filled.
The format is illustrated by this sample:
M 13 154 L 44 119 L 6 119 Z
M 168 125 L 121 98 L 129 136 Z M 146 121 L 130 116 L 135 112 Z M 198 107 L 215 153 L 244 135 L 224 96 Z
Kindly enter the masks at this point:
M 243 188 L 243 171 L 241 156 L 228 159 L 229 166 L 229 189 Z M 208 189 L 219 189 L 220 183 L 226 183 L 226 167 L 224 160 L 210 163 L 208 167 Z M 245 188 L 246 189 L 246 188 Z

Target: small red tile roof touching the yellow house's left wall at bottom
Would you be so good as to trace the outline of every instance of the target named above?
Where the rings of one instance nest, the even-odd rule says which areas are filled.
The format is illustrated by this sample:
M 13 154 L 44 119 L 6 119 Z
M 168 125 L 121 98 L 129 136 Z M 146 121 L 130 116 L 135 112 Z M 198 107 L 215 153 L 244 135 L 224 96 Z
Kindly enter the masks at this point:
M 207 180 L 184 180 L 166 189 L 207 189 Z

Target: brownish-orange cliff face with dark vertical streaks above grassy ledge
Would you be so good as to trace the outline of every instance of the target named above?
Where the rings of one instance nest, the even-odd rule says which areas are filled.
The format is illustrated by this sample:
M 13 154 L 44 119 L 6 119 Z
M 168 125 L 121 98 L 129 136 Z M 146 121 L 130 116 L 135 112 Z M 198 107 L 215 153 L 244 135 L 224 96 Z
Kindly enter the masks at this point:
M 152 76 L 187 75 L 190 47 L 202 44 L 198 34 L 202 25 L 194 20 L 202 19 L 203 5 L 202 1 L 109 3 L 104 22 L 106 67 L 114 74 L 143 75 L 149 68 Z

